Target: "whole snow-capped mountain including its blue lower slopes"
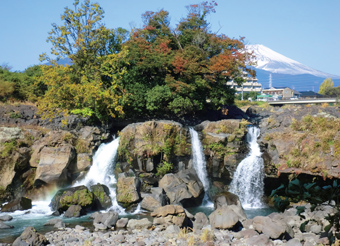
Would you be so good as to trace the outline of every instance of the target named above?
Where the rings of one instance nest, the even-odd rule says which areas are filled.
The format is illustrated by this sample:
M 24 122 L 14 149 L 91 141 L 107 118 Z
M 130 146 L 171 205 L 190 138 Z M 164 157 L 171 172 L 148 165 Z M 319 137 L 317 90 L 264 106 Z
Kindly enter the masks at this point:
M 274 87 L 288 86 L 298 91 L 317 92 L 325 78 L 332 78 L 334 86 L 340 85 L 340 76 L 310 68 L 264 45 L 246 45 L 246 49 L 252 51 L 255 56 L 257 78 L 264 88 L 269 85 L 269 77 Z

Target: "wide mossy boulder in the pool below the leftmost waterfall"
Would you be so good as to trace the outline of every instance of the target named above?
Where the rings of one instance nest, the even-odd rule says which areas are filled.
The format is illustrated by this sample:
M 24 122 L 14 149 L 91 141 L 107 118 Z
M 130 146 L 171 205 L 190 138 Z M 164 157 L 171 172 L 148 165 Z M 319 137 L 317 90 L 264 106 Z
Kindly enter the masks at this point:
M 51 207 L 52 210 L 62 213 L 71 205 L 80 205 L 83 209 L 91 209 L 93 202 L 93 193 L 82 185 L 59 190 L 52 198 Z

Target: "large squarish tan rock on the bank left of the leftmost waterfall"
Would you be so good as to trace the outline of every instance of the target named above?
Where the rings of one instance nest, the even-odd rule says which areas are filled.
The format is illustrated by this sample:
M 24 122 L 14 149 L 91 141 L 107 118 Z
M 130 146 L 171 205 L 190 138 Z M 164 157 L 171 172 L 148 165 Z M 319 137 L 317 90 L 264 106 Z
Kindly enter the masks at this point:
M 40 153 L 34 184 L 56 184 L 62 186 L 69 181 L 69 165 L 75 161 L 75 150 L 72 145 L 44 147 Z

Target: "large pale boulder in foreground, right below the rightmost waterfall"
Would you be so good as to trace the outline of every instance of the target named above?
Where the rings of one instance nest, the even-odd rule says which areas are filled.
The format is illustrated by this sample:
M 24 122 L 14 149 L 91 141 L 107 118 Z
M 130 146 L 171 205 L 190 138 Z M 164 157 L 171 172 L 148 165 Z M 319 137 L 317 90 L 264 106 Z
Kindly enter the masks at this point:
M 253 227 L 257 232 L 263 233 L 271 239 L 282 238 L 286 233 L 291 231 L 283 220 L 274 220 L 268 216 L 254 217 Z

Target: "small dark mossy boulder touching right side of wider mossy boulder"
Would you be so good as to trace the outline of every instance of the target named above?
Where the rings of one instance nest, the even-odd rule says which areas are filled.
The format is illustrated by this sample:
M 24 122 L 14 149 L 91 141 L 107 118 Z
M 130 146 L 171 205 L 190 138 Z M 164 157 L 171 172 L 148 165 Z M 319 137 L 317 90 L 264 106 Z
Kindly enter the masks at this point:
M 94 195 L 94 209 L 103 210 L 112 207 L 110 190 L 106 185 L 92 185 L 90 190 Z

